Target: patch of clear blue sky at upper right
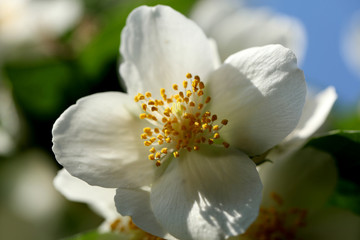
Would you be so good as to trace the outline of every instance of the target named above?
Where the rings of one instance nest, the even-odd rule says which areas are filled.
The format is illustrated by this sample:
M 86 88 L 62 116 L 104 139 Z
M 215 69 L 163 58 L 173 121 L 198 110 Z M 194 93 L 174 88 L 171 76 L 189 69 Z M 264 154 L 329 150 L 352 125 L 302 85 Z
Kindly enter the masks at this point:
M 360 0 L 252 0 L 302 21 L 307 31 L 307 52 L 302 69 L 311 85 L 322 89 L 333 85 L 338 103 L 360 101 L 360 76 L 353 73 L 341 55 L 343 32 Z M 359 43 L 360 44 L 360 43 Z

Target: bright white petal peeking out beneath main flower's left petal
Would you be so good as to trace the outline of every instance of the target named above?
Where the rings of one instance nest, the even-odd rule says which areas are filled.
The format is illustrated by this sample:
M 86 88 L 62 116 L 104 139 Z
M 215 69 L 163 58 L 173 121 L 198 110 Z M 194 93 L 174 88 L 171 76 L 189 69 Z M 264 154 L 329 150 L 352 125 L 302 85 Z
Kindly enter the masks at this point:
M 54 186 L 67 199 L 89 204 L 105 219 L 114 219 L 119 216 L 115 208 L 116 189 L 114 188 L 91 186 L 79 178 L 71 176 L 64 168 L 57 173 Z

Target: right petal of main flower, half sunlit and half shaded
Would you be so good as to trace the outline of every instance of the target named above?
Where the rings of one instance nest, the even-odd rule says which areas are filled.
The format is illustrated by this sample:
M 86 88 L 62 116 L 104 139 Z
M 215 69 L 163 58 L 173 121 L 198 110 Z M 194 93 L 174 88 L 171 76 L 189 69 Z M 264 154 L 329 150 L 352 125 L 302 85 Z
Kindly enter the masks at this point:
M 295 128 L 306 95 L 294 54 L 280 45 L 230 56 L 207 88 L 211 112 L 229 120 L 221 136 L 250 155 L 265 152 Z

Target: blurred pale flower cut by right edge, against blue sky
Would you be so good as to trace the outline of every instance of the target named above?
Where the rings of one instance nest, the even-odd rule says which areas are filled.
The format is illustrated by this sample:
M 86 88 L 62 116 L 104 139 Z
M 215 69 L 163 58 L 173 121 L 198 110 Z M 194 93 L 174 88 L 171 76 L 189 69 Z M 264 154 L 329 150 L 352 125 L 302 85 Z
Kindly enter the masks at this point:
M 344 61 L 360 78 L 360 10 L 351 17 L 342 40 L 341 50 Z

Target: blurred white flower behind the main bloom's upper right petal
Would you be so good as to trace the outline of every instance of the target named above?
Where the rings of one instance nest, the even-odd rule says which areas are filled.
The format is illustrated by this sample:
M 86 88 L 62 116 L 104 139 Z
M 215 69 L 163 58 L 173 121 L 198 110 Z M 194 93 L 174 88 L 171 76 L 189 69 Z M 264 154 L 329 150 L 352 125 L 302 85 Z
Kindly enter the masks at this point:
M 256 46 L 281 44 L 295 52 L 301 63 L 306 49 L 302 23 L 271 9 L 249 8 L 241 1 L 202 0 L 195 4 L 191 18 L 216 40 L 220 56 Z

